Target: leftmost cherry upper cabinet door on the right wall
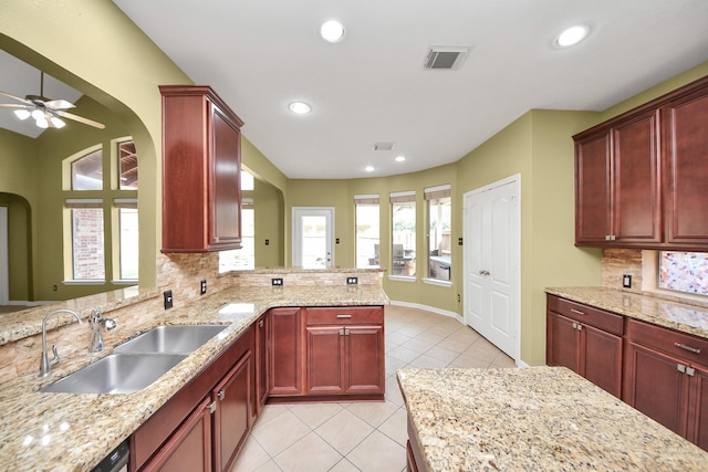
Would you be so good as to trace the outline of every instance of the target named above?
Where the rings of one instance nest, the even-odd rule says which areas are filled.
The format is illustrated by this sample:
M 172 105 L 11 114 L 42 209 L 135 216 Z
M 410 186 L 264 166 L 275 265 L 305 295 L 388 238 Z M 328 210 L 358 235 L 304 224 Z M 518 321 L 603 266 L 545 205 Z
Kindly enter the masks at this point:
M 610 133 L 575 143 L 575 245 L 606 243 L 612 234 Z

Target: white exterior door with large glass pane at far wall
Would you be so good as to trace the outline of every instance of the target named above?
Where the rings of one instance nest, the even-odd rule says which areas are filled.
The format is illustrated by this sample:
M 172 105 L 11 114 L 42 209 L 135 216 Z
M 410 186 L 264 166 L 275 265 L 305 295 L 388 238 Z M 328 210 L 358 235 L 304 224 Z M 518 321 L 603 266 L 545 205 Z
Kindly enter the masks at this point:
M 293 207 L 292 265 L 303 269 L 334 265 L 334 208 Z

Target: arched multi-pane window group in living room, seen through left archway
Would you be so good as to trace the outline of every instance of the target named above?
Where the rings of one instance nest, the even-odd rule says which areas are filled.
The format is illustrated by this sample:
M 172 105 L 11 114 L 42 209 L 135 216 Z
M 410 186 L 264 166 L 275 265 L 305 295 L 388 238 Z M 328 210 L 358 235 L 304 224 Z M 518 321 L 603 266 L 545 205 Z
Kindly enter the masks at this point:
M 95 283 L 138 279 L 137 156 L 132 139 L 93 146 L 64 160 L 64 277 Z M 108 165 L 108 162 L 113 162 Z M 111 169 L 104 172 L 105 169 Z M 66 182 L 71 182 L 67 185 Z M 112 185 L 110 185 L 113 182 Z M 94 190 L 92 198 L 81 193 Z M 97 197 L 97 198 L 93 198 Z M 110 204 L 104 204 L 111 202 Z

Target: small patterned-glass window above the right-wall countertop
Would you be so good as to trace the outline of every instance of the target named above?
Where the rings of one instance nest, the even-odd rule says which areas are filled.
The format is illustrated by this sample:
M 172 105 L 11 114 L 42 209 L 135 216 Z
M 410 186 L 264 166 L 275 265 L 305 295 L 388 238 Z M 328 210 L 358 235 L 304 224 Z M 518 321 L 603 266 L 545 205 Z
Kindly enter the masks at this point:
M 708 254 L 659 252 L 659 289 L 708 295 Z

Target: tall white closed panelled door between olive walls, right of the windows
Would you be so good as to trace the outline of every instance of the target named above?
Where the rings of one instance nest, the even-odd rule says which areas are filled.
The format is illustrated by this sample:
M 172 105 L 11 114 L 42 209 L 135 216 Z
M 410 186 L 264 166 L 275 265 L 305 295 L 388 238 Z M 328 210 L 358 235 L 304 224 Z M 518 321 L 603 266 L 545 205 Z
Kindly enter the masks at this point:
M 519 359 L 520 176 L 465 193 L 465 323 Z

